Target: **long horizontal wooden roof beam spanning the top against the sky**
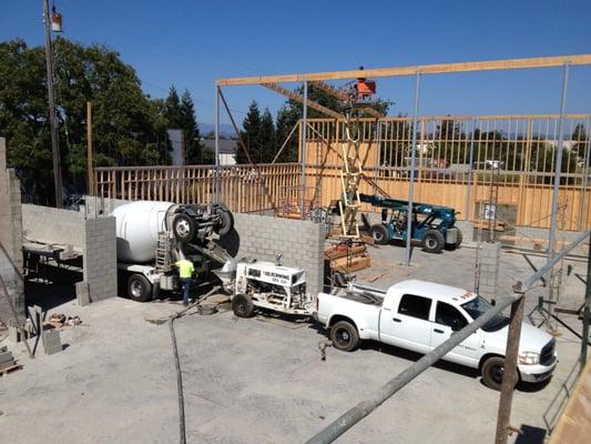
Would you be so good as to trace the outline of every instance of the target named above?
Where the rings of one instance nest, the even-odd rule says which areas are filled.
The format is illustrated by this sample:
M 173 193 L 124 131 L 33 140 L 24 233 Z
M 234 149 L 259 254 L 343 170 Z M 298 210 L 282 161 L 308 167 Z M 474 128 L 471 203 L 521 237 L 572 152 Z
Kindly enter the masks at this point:
M 529 68 L 552 68 L 563 64 L 591 64 L 591 54 L 537 57 L 530 59 L 489 60 L 480 62 L 422 64 L 415 67 L 377 68 L 353 71 L 312 72 L 304 74 L 255 75 L 233 79 L 218 79 L 216 84 L 230 87 L 238 84 L 261 84 L 278 82 L 303 82 L 305 80 L 347 80 L 358 78 L 379 78 L 421 74 L 439 74 L 450 72 L 495 71 Z

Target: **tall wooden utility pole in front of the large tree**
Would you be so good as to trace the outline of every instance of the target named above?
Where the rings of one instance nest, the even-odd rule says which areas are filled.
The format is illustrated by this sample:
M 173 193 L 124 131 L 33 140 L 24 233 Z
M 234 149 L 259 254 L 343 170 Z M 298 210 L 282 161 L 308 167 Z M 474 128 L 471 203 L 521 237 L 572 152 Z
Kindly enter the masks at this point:
M 45 26 L 45 68 L 48 73 L 49 123 L 51 127 L 51 150 L 53 152 L 53 182 L 55 186 L 55 206 L 63 206 L 62 168 L 60 159 L 60 140 L 58 115 L 55 113 L 55 97 L 53 91 L 53 51 L 51 48 L 51 21 L 49 17 L 49 0 L 43 2 L 43 23 Z

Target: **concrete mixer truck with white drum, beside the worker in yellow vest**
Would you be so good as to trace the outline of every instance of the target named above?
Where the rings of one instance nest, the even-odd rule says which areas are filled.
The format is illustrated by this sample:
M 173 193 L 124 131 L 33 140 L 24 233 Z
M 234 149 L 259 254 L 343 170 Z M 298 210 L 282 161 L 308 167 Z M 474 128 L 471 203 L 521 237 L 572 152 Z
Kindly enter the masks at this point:
M 234 226 L 223 204 L 137 201 L 111 215 L 116 220 L 120 282 L 134 301 L 180 291 L 174 268 L 180 259 L 192 261 L 201 279 L 213 272 L 224 284 L 235 274 L 234 259 L 215 242 Z

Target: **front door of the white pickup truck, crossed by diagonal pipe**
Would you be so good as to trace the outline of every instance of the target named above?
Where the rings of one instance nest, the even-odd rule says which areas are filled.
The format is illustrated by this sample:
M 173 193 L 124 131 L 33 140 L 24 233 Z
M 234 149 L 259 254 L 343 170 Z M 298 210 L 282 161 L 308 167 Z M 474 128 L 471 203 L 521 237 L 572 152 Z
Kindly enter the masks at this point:
M 435 310 L 435 322 L 431 325 L 431 349 L 435 349 L 447 341 L 454 332 L 468 325 L 468 320 L 454 305 L 438 301 Z M 477 366 L 480 345 L 480 332 L 476 332 L 449 352 L 446 360 L 471 367 Z

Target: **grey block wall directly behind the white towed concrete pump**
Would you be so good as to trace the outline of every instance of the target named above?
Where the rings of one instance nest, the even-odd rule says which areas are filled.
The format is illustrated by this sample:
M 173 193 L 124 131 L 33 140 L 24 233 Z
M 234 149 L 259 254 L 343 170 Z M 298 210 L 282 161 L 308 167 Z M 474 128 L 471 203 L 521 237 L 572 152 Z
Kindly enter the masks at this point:
M 235 230 L 240 236 L 236 258 L 256 258 L 275 261 L 283 252 L 286 266 L 306 269 L 307 289 L 316 294 L 323 289 L 324 225 L 256 214 L 234 213 Z

